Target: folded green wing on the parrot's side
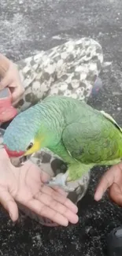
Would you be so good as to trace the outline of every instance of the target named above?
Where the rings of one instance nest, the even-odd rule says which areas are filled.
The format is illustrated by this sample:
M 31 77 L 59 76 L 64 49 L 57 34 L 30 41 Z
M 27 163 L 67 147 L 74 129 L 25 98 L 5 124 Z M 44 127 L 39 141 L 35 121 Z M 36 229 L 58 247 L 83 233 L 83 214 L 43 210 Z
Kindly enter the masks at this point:
M 97 164 L 119 158 L 118 138 L 115 128 L 109 131 L 106 120 L 69 124 L 63 134 L 62 141 L 68 154 L 83 164 Z M 109 164 L 109 163 L 108 163 Z

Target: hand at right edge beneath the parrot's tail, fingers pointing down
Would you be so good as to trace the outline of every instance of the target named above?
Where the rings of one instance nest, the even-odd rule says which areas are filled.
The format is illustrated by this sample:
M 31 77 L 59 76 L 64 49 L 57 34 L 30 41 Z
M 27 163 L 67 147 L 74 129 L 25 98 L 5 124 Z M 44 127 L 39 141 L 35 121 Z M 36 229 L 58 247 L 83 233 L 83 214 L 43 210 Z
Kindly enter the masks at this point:
M 94 199 L 99 201 L 109 188 L 109 196 L 113 202 L 122 206 L 122 162 L 111 167 L 103 176 L 94 194 Z

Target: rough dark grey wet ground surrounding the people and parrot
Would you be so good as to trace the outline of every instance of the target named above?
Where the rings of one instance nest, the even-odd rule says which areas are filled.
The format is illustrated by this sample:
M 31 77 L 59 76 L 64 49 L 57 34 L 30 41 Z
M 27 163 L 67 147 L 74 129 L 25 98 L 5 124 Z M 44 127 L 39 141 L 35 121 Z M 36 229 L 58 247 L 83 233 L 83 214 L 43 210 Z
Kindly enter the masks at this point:
M 122 125 L 121 0 L 1 0 L 0 51 L 13 61 L 68 39 L 91 36 L 102 44 L 103 88 L 89 104 L 112 114 Z M 46 228 L 29 218 L 13 224 L 0 212 L 0 255 L 107 256 L 106 235 L 122 223 L 122 209 L 107 196 L 94 202 L 103 169 L 94 169 L 87 195 L 79 202 L 79 224 Z

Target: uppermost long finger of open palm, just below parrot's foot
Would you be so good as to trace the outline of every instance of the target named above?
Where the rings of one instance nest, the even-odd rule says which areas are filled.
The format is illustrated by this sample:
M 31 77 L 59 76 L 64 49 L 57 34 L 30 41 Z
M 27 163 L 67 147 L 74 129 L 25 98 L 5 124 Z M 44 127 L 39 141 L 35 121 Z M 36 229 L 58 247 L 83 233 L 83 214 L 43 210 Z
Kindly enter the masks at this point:
M 50 195 L 51 198 L 54 198 L 57 202 L 60 202 L 62 205 L 66 206 L 69 210 L 72 210 L 73 213 L 78 212 L 78 207 L 70 201 L 65 196 L 60 195 L 57 191 L 54 191 L 51 187 L 43 186 L 41 187 L 41 192 L 46 195 Z

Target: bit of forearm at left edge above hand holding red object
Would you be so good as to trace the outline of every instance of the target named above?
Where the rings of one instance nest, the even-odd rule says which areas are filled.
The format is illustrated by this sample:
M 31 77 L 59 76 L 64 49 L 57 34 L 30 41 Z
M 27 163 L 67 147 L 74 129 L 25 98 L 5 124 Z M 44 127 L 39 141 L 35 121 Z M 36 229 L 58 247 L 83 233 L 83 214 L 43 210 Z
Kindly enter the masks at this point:
M 10 62 L 11 61 L 9 61 L 6 56 L 0 54 L 0 78 L 5 76 L 6 71 L 9 69 Z

